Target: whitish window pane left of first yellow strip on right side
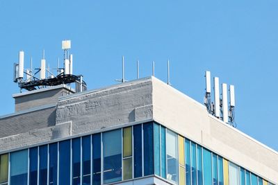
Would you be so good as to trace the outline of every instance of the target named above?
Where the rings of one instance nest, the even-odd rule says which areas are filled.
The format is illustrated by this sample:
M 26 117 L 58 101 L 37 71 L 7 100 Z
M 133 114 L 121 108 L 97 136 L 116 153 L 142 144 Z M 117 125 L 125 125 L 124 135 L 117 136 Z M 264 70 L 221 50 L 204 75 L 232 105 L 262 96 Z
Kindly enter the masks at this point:
M 167 180 L 177 184 L 179 181 L 178 135 L 167 130 Z

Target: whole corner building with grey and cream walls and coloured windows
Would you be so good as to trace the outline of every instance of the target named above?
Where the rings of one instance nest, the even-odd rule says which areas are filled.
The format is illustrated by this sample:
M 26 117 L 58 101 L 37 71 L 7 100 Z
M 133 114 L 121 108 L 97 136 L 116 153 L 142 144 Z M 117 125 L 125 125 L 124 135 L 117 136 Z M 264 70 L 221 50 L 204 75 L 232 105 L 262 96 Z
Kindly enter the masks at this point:
M 278 184 L 278 152 L 154 77 L 13 97 L 0 185 Z

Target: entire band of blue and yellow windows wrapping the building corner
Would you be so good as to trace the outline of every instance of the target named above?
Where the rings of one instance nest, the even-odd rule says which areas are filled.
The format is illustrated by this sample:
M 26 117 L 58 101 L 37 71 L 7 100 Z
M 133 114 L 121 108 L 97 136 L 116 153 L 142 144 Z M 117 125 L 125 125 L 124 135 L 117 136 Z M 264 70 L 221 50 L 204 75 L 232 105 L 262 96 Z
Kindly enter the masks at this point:
M 147 175 L 181 185 L 274 185 L 157 123 L 0 155 L 0 185 L 101 185 Z

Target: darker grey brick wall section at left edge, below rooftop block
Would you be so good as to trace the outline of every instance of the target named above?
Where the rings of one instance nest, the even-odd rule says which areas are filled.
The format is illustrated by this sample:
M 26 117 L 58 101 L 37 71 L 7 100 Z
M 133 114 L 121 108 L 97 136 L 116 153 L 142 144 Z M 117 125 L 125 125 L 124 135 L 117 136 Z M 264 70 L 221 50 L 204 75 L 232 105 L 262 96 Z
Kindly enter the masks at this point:
M 56 123 L 56 107 L 47 107 L 33 112 L 14 114 L 0 118 L 0 138 L 28 132 L 33 129 L 50 127 Z

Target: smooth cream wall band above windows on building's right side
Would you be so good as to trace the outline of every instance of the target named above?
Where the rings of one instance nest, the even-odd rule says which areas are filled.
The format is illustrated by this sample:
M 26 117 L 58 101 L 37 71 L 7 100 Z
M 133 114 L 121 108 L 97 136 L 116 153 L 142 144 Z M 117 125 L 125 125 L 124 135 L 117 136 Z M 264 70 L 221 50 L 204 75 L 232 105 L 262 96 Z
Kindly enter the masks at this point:
M 206 107 L 153 79 L 154 121 L 244 168 L 278 183 L 278 153 L 211 117 Z

